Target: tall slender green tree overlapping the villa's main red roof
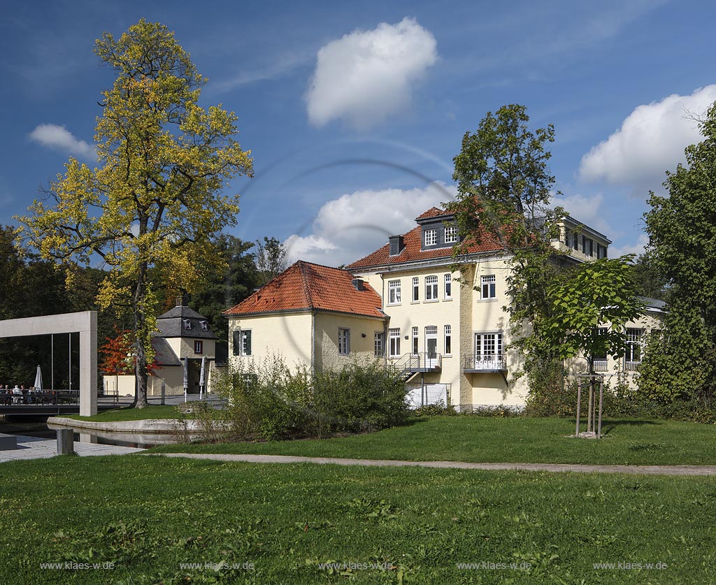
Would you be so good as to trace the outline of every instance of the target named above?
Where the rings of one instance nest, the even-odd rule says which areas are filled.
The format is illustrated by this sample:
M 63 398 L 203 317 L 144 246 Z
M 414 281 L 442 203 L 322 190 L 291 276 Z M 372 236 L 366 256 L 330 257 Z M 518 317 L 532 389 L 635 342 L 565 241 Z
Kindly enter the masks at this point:
M 555 179 L 548 168 L 554 128 L 528 127 L 523 105 L 488 112 L 476 132 L 466 132 L 455 156 L 453 179 L 458 183 L 455 213 L 461 242 L 458 257 L 477 240 L 489 237 L 511 256 L 508 295 L 513 347 L 525 358 L 531 386 L 560 384 L 562 367 L 558 352 L 543 336 L 543 322 L 551 306 L 546 290 L 556 278 L 559 254 L 551 246 L 561 208 L 551 207 Z

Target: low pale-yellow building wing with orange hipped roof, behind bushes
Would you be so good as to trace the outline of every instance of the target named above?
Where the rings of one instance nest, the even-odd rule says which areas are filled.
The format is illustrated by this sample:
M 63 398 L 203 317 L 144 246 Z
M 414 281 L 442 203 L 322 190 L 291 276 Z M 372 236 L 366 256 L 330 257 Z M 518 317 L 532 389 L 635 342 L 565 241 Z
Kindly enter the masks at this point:
M 371 286 L 349 271 L 298 261 L 224 314 L 229 360 L 281 357 L 295 369 L 337 368 L 382 357 L 387 315 Z

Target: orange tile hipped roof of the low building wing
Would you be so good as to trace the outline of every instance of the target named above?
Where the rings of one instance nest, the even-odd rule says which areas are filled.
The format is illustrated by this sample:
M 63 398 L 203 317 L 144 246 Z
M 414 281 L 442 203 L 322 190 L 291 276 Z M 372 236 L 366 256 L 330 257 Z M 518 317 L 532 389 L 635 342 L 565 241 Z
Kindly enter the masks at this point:
M 266 286 L 231 309 L 226 316 L 319 309 L 383 319 L 380 296 L 367 283 L 357 291 L 347 270 L 299 260 Z

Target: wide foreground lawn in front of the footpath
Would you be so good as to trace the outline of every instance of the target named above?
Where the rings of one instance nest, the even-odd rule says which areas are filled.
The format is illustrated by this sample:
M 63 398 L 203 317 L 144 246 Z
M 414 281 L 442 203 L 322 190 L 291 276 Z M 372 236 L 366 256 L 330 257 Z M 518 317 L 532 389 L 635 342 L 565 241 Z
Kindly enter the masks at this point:
M 716 581 L 710 478 L 64 456 L 2 464 L 0 494 L 4 584 Z M 522 568 L 457 566 L 482 561 Z

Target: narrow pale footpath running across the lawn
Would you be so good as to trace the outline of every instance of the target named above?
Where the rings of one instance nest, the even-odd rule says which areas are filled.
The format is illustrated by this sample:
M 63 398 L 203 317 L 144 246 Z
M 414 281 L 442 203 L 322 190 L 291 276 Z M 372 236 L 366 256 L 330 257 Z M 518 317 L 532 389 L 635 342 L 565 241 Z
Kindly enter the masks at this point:
M 428 467 L 439 469 L 523 470 L 576 473 L 638 473 L 644 475 L 716 475 L 716 465 L 573 465 L 568 463 L 465 463 L 464 461 L 400 461 L 299 457 L 296 455 L 220 455 L 208 453 L 147 453 L 161 457 L 245 461 L 248 463 L 321 463 L 372 467 Z

